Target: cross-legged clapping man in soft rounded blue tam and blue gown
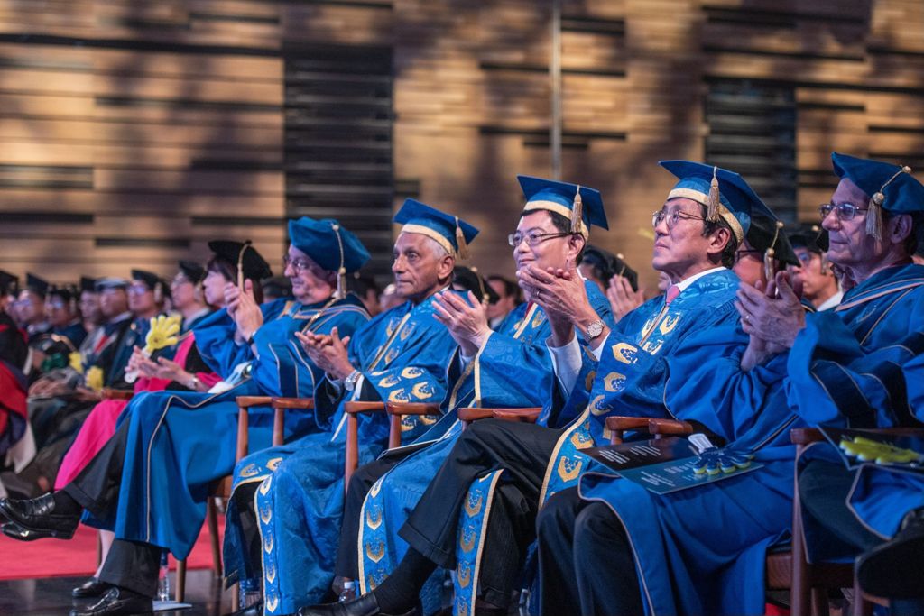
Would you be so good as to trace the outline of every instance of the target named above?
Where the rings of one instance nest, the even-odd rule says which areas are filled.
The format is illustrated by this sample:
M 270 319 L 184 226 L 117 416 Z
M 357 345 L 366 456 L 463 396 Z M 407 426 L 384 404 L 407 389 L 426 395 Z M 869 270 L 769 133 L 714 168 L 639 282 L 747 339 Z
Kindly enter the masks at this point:
M 302 355 L 294 332 L 341 328 L 351 335 L 367 320 L 358 299 L 338 293 L 344 289 L 338 267 L 346 257 L 368 259 L 359 240 L 336 221 L 309 218 L 290 222 L 289 235 L 286 274 L 295 299 L 262 306 L 259 284 L 243 271 L 249 262 L 259 271 L 256 278 L 267 278 L 266 262 L 249 243 L 210 243 L 237 264 L 235 284 L 225 285 L 226 308 L 194 330 L 202 359 L 223 379 L 210 392 L 140 393 L 113 438 L 67 486 L 30 501 L 0 500 L 0 511 L 18 527 L 5 530 L 10 536 L 72 537 L 83 513 L 87 524 L 115 531 L 99 573 L 107 589 L 75 616 L 151 611 L 162 550 L 188 556 L 210 486 L 234 468 L 237 396 L 310 395 L 322 373 Z M 249 446 L 257 450 L 270 443 L 273 417 L 269 409 L 251 410 Z M 286 432 L 313 423 L 313 417 L 290 415 Z

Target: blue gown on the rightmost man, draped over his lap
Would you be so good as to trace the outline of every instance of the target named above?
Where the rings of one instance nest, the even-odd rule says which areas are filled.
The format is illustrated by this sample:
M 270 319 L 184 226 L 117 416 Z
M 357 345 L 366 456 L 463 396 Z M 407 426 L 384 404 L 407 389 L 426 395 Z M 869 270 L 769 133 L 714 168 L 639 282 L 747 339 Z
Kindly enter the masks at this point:
M 920 290 L 909 292 L 908 283 L 908 272 L 870 278 L 836 310 L 807 315 L 790 352 L 750 372 L 737 368 L 748 344 L 737 327 L 704 332 L 700 338 L 714 336 L 715 344 L 736 337 L 738 344 L 699 369 L 678 355 L 672 368 L 684 387 L 668 390 L 667 405 L 680 418 L 703 421 L 731 447 L 755 452 L 764 466 L 664 495 L 603 474 L 582 478 L 581 496 L 608 504 L 626 528 L 649 613 L 763 613 L 766 550 L 791 529 L 795 448 L 788 431 L 836 404 L 821 381 L 810 390 L 806 384 L 833 368 L 832 349 L 852 345 L 869 354 L 906 338 L 906 320 L 881 317 L 921 314 Z

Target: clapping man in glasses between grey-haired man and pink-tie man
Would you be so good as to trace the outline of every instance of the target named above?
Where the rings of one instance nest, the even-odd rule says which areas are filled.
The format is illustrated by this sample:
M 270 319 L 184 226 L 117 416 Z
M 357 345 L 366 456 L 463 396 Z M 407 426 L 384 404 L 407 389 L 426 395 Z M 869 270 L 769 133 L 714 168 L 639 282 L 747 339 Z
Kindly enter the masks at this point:
M 517 231 L 509 238 L 517 269 L 534 265 L 543 271 L 550 268 L 564 271 L 569 263 L 580 263 L 591 224 L 603 228 L 606 225 L 600 193 L 580 187 L 582 220 L 572 224 L 577 185 L 527 176 L 518 179 L 526 203 Z M 602 331 L 604 326 L 613 326 L 600 288 L 590 281 L 582 282 L 583 292 L 597 317 L 596 326 L 590 323 L 591 331 L 594 327 Z M 438 318 L 459 344 L 459 352 L 449 365 L 450 383 L 455 381 L 455 384 L 448 389 L 442 405 L 446 412 L 441 421 L 444 429 L 434 428 L 423 437 L 425 442 L 432 441 L 429 446 L 421 444 L 413 451 L 389 452 L 359 467 L 350 480 L 335 573 L 344 580 L 359 580 L 359 590 L 366 591 L 380 583 L 407 550 L 398 530 L 427 489 L 433 469 L 443 462 L 462 432 L 456 421 L 458 409 L 544 405 L 548 411 L 539 417 L 541 425 L 558 427 L 566 423 L 558 415 L 565 392 L 555 380 L 552 357 L 545 345 L 552 332 L 551 324 L 543 308 L 532 301 L 530 291 L 527 289 L 529 303 L 515 308 L 497 331 L 488 328 L 479 308 L 468 307 L 451 297 L 437 298 Z M 470 299 L 474 299 L 474 294 Z M 374 550 L 380 544 L 383 550 Z M 367 550 L 370 546 L 373 549 Z M 488 550 L 508 548 L 505 537 L 488 546 Z M 482 562 L 482 586 L 490 588 L 484 593 L 486 603 L 505 607 L 510 592 L 501 585 L 509 581 L 505 567 L 511 560 L 489 551 Z M 432 590 L 440 587 L 432 586 L 436 586 Z M 433 595 L 439 596 L 432 590 L 425 592 L 428 597 L 425 609 L 435 607 L 428 605 L 435 602 Z

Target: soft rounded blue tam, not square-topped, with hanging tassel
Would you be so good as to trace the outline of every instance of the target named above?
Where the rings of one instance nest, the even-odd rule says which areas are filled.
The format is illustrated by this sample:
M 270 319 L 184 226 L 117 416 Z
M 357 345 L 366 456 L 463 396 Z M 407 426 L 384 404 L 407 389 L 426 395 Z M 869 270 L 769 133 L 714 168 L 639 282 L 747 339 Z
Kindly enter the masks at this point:
M 328 272 L 356 272 L 369 260 L 369 250 L 359 237 L 333 218 L 307 216 L 289 221 L 289 241 Z

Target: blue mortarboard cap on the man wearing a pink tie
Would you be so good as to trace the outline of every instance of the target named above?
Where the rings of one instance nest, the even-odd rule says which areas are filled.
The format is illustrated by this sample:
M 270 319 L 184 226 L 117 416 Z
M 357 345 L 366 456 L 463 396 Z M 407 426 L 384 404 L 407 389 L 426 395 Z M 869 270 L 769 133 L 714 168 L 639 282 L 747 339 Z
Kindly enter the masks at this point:
M 732 227 L 739 244 L 748 236 L 751 211 L 760 210 L 776 220 L 754 189 L 734 171 L 693 161 L 661 161 L 658 164 L 680 180 L 667 199 L 692 199 L 705 205 L 707 219 L 714 222 L 716 216 L 721 217 Z M 712 195 L 718 199 L 713 199 Z

